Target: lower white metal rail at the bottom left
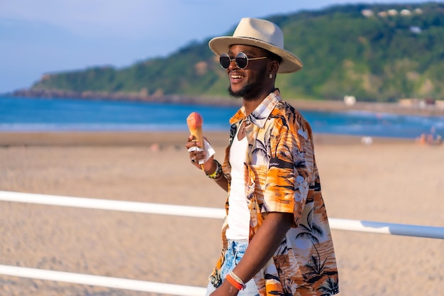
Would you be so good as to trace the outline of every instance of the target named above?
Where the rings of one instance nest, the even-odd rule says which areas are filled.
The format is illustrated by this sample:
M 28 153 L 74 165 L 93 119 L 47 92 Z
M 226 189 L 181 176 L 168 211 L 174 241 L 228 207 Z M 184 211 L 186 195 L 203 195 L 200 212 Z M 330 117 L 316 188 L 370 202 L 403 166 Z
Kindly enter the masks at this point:
M 111 278 L 100 275 L 84 275 L 82 273 L 65 273 L 63 271 L 25 268 L 10 265 L 0 265 L 0 275 L 11 275 L 19 278 L 35 278 L 38 280 L 55 280 L 79 285 L 94 285 L 112 287 L 142 292 L 155 292 L 169 295 L 199 296 L 205 295 L 205 287 L 172 285 L 147 282 L 144 280 L 128 280 L 125 278 Z

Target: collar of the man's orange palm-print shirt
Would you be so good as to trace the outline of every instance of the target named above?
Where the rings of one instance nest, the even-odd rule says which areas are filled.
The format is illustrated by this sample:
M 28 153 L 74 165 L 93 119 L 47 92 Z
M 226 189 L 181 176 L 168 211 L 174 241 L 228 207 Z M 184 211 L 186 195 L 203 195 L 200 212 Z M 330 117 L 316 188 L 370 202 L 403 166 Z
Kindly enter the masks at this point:
M 275 89 L 274 92 L 265 97 L 265 99 L 256 107 L 254 111 L 248 115 L 248 119 L 259 128 L 265 126 L 268 116 L 272 113 L 274 106 L 278 102 L 282 101 L 279 89 Z M 230 119 L 230 124 L 236 124 L 245 118 L 245 107 L 242 106 Z

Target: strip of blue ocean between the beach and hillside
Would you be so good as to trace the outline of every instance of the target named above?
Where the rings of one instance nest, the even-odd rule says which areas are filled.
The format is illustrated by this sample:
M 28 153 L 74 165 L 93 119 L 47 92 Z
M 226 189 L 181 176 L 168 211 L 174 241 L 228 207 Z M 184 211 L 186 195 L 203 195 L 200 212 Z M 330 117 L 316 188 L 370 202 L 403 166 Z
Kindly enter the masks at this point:
M 228 131 L 237 106 L 204 106 L 85 99 L 0 96 L 1 131 L 186 131 L 187 116 L 197 111 L 204 130 Z M 444 116 L 406 116 L 366 111 L 299 110 L 313 133 L 416 138 L 444 136 Z

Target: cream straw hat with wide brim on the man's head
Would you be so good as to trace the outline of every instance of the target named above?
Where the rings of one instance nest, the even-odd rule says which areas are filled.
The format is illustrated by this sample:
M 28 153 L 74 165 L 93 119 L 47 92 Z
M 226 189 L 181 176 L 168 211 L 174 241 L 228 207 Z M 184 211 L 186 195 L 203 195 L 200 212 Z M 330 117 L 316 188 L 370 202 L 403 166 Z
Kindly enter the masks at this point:
M 296 55 L 284 50 L 284 34 L 271 21 L 259 18 L 242 18 L 233 36 L 216 37 L 210 40 L 209 47 L 216 53 L 226 53 L 231 45 L 252 45 L 268 50 L 279 57 L 282 62 L 278 73 L 296 72 L 302 69 L 302 62 Z

